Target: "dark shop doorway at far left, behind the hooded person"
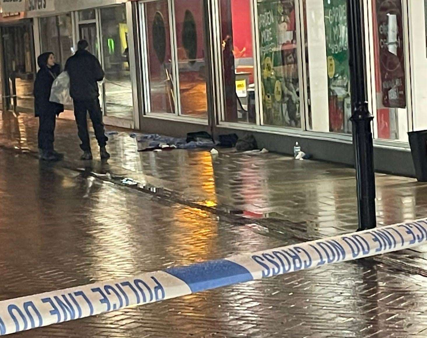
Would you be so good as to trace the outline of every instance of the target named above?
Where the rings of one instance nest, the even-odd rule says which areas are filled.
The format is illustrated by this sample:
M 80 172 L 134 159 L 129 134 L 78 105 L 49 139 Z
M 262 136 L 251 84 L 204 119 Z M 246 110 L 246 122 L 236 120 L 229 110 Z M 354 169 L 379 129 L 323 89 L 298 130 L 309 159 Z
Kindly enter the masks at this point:
M 2 26 L 4 106 L 14 111 L 34 108 L 35 59 L 32 22 Z

